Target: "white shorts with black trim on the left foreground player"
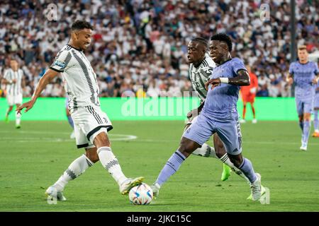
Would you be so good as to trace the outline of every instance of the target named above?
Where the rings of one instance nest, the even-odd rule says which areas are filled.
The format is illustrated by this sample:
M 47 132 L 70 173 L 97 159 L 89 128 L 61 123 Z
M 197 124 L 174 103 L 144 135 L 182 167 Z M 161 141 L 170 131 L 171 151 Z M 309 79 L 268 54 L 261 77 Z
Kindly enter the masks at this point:
M 72 109 L 74 135 L 77 148 L 94 148 L 94 138 L 113 129 L 112 123 L 100 107 L 86 106 Z

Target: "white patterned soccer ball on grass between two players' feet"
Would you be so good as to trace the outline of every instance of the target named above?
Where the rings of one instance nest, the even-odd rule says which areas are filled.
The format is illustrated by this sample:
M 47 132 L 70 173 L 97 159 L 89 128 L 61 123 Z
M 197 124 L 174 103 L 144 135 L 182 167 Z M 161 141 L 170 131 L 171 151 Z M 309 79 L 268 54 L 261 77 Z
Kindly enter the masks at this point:
M 130 203 L 134 203 L 135 205 L 147 205 L 152 201 L 153 191 L 150 186 L 142 183 L 130 189 L 128 197 L 130 198 Z

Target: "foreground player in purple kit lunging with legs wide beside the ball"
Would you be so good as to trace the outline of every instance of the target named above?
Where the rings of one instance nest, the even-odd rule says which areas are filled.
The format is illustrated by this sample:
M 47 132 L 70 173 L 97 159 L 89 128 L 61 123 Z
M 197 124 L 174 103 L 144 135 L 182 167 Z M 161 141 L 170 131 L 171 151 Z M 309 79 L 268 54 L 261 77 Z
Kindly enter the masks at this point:
M 232 42 L 228 35 L 213 35 L 209 51 L 217 66 L 206 83 L 208 93 L 203 109 L 192 126 L 186 129 L 179 148 L 169 158 L 151 186 L 153 194 L 157 197 L 160 187 L 177 172 L 184 160 L 213 133 L 217 133 L 225 145 L 230 161 L 249 179 L 252 200 L 257 201 L 265 190 L 260 174 L 254 172 L 252 162 L 242 156 L 242 136 L 237 113 L 240 85 L 250 85 L 250 77 L 243 62 L 230 57 Z

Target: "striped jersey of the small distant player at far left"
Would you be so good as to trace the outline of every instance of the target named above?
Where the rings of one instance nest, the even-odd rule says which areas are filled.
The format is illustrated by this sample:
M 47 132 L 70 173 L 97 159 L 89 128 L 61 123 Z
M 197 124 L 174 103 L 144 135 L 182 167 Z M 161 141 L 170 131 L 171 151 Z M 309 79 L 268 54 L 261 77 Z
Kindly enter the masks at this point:
M 23 71 L 21 69 L 18 69 L 18 71 L 13 71 L 12 69 L 6 69 L 4 71 L 4 78 L 6 81 L 13 81 L 13 79 L 16 79 L 16 83 L 6 84 L 6 92 L 7 95 L 16 96 L 16 95 L 22 95 L 22 78 L 23 78 Z

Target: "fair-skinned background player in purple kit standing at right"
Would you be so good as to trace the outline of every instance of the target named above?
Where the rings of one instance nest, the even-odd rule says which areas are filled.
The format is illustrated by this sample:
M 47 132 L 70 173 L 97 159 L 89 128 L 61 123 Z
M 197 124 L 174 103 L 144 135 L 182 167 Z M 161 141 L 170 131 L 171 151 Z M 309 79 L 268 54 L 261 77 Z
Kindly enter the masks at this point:
M 307 150 L 318 74 L 318 65 L 308 61 L 306 46 L 298 47 L 298 61 L 290 64 L 287 82 L 289 85 L 295 83 L 296 107 L 302 131 L 300 150 Z

